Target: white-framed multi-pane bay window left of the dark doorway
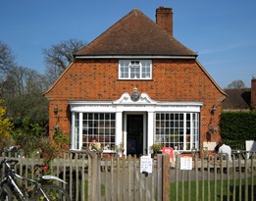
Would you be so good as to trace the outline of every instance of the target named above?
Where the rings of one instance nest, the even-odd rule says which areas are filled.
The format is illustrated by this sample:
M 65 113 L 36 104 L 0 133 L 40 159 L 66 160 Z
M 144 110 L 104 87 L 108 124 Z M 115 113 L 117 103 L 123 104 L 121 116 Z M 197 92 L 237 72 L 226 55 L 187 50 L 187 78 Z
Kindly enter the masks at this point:
M 74 131 L 72 148 L 88 147 L 95 137 L 101 147 L 115 146 L 115 113 L 74 113 Z

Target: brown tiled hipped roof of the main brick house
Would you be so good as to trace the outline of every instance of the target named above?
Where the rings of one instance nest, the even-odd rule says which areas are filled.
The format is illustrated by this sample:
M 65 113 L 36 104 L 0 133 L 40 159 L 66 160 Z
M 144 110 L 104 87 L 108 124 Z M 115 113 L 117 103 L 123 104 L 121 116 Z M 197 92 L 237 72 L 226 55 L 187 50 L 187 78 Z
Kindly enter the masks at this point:
M 77 56 L 197 56 L 138 9 L 95 38 Z

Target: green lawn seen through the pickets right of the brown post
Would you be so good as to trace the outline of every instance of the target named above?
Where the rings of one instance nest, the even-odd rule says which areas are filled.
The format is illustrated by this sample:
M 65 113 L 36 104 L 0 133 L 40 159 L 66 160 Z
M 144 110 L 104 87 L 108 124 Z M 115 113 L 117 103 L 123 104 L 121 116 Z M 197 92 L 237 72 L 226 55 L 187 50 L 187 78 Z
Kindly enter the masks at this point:
M 253 177 L 253 192 L 254 199 L 256 199 L 256 176 Z M 196 181 L 179 181 L 178 188 L 177 183 L 171 183 L 170 185 L 170 197 L 171 200 L 185 200 L 185 201 L 198 201 L 198 200 L 245 200 L 245 179 L 241 179 L 241 184 L 239 185 L 239 179 L 235 181 L 230 180 L 228 184 L 227 180 L 221 181 L 211 180 L 208 184 L 208 181 L 198 181 L 196 188 Z M 247 184 L 247 196 L 249 201 L 253 201 L 251 198 L 251 189 L 252 189 L 252 179 L 248 178 Z M 190 190 L 189 190 L 190 186 Z M 178 191 L 177 191 L 178 189 Z M 197 192 L 197 193 L 196 193 Z M 178 197 L 177 197 L 178 196 Z

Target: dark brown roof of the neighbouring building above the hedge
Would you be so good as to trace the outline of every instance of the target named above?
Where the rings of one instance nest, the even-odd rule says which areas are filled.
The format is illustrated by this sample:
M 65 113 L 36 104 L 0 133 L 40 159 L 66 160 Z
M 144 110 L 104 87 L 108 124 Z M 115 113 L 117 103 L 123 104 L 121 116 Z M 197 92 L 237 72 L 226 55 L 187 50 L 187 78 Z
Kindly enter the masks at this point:
M 224 89 L 228 97 L 223 102 L 223 110 L 250 110 L 251 88 Z

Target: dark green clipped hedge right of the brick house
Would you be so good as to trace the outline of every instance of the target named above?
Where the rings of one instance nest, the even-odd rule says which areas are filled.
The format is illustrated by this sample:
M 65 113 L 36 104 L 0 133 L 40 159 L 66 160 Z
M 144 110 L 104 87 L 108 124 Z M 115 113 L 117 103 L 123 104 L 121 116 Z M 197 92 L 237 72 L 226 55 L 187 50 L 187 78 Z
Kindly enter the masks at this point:
M 245 140 L 256 140 L 256 111 L 222 112 L 220 122 L 222 139 L 232 149 L 241 149 Z

